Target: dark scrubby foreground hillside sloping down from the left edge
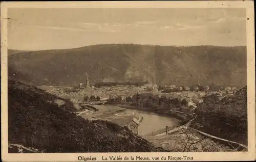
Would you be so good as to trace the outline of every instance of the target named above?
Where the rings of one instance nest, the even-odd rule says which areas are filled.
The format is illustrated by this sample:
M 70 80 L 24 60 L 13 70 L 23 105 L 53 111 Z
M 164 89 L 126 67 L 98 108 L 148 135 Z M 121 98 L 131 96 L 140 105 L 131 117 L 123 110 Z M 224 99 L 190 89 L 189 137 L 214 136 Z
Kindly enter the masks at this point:
M 8 80 L 9 152 L 15 152 L 13 146 L 48 153 L 159 151 L 126 127 L 77 117 L 53 104 L 54 99 L 35 87 Z

